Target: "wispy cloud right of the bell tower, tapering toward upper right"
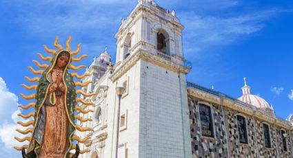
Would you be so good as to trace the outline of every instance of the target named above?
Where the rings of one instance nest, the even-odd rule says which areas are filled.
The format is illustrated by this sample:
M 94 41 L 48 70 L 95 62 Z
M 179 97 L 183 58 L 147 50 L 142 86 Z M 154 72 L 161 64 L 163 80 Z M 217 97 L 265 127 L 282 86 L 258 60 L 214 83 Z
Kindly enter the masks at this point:
M 263 22 L 276 14 L 278 10 L 268 10 L 238 16 L 201 16 L 196 12 L 179 13 L 181 23 L 185 25 L 185 54 L 193 55 L 196 51 L 226 45 L 239 38 L 259 32 Z

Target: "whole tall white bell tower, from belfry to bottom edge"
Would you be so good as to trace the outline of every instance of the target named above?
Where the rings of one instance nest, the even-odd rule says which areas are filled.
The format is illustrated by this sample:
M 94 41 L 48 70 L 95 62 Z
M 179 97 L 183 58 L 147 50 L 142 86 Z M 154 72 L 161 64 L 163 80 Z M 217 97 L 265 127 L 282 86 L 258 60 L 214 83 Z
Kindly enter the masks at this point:
M 174 11 L 139 0 L 115 34 L 117 58 L 110 80 L 125 87 L 119 146 L 129 157 L 192 157 L 185 78 L 191 67 L 183 57 L 182 30 Z

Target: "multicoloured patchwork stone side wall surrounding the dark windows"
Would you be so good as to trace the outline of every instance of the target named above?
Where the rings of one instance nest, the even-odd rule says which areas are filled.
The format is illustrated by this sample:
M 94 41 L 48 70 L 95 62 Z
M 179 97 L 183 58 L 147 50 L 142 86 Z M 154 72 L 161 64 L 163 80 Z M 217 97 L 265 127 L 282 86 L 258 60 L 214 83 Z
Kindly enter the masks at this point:
M 199 106 L 197 106 L 199 101 L 201 100 L 198 98 L 188 97 L 193 157 L 228 157 L 228 155 L 229 157 L 247 158 L 293 157 L 293 131 L 286 131 L 287 151 L 284 151 L 281 128 L 274 126 L 274 124 L 269 124 L 272 148 L 265 148 L 263 121 L 256 120 L 252 116 L 240 114 L 246 118 L 248 136 L 248 143 L 241 144 L 236 122 L 236 116 L 239 115 L 239 112 L 225 107 L 222 110 L 221 105 L 217 104 L 212 104 L 215 137 L 202 137 Z M 278 149 L 278 152 L 276 149 Z

